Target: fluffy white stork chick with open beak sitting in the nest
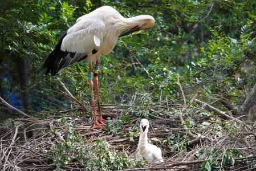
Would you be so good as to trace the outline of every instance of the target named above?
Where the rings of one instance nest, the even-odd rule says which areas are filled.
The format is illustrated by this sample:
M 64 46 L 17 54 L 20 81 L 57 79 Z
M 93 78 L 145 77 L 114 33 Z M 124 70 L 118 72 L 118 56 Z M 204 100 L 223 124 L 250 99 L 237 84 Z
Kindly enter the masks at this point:
M 145 157 L 147 162 L 160 163 L 162 159 L 162 151 L 159 147 L 148 143 L 149 122 L 147 119 L 140 121 L 140 140 L 136 153 L 136 160 L 140 161 L 141 157 Z

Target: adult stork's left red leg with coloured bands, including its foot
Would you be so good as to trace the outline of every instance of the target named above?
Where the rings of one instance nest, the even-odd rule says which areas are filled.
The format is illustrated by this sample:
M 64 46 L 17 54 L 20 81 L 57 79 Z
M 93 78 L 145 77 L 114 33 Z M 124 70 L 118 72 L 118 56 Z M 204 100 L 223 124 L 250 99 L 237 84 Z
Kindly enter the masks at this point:
M 95 110 L 95 103 L 94 103 L 94 90 L 92 88 L 93 83 L 92 83 L 92 65 L 91 64 L 89 64 L 88 83 L 89 83 L 89 87 L 90 87 L 90 91 L 91 91 L 92 111 L 94 113 L 94 116 L 93 116 L 94 126 L 92 127 L 92 129 L 100 128 L 101 125 L 97 122 L 97 118 L 96 118 L 96 110 Z

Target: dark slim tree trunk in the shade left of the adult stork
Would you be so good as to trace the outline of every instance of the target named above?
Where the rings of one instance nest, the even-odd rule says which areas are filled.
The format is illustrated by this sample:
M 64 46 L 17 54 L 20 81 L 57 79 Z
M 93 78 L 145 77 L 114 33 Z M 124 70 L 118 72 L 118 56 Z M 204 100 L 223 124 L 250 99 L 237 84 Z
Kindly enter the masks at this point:
M 21 101 L 24 109 L 29 110 L 29 94 L 27 93 L 27 78 L 25 70 L 25 62 L 22 58 L 16 58 L 17 72 L 19 79 L 19 87 L 21 88 Z

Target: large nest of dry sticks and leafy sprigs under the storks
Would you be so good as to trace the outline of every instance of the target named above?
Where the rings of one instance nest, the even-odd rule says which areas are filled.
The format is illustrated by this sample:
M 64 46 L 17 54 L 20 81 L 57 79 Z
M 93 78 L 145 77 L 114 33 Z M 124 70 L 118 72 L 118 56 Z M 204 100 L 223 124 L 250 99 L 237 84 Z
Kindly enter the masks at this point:
M 198 104 L 194 103 L 186 107 L 170 105 L 168 102 L 151 104 L 147 107 L 104 105 L 103 112 L 108 114 L 103 116 L 109 119 L 107 126 L 93 130 L 91 116 L 84 114 L 82 116 L 84 112 L 81 112 L 80 108 L 41 113 L 46 119 L 15 119 L 13 128 L 0 133 L 0 168 L 1 170 L 255 168 L 256 144 L 253 123 L 235 119 L 231 115 L 224 117 Z M 49 119 L 55 116 L 58 117 Z M 162 164 L 135 160 L 140 133 L 139 122 L 143 117 L 147 117 L 150 123 L 149 141 L 162 150 L 164 157 Z

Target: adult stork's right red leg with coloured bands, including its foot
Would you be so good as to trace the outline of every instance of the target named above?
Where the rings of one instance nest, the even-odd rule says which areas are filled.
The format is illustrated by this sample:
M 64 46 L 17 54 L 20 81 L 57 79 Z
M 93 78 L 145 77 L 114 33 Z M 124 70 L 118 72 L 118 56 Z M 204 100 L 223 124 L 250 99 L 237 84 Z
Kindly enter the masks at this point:
M 98 107 L 98 112 L 99 112 L 99 116 L 97 121 L 101 124 L 104 124 L 105 122 L 107 122 L 107 120 L 102 118 L 101 115 L 101 109 L 100 109 L 100 93 L 99 93 L 99 80 L 97 78 L 97 74 L 99 72 L 99 60 L 96 60 L 95 62 L 95 68 L 94 68 L 94 84 L 95 84 L 95 91 L 96 91 L 96 98 L 97 98 L 97 107 Z

